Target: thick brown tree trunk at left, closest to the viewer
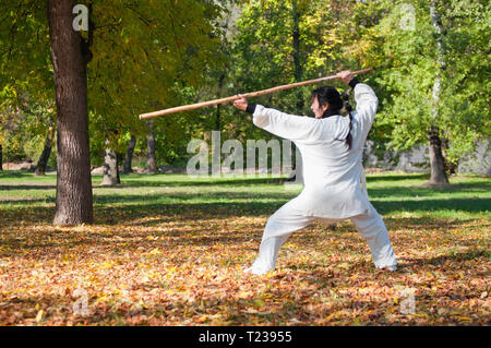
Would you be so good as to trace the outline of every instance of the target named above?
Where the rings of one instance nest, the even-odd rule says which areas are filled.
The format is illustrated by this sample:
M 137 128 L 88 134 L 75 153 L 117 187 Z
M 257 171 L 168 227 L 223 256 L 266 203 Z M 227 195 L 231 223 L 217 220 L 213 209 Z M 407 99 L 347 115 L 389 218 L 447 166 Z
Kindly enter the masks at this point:
M 87 77 L 80 34 L 72 27 L 73 0 L 48 0 L 51 62 L 57 100 L 57 199 L 55 225 L 92 224 Z

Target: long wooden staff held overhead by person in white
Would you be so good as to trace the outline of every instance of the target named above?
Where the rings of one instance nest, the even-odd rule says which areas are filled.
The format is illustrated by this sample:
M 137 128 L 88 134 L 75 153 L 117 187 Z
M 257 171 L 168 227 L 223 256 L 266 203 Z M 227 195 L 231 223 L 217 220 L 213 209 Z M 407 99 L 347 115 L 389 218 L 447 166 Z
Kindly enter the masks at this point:
M 352 74 L 354 75 L 364 74 L 364 73 L 367 73 L 369 71 L 372 71 L 372 70 L 373 70 L 373 68 L 359 70 L 359 71 L 354 71 Z M 265 94 L 275 93 L 275 92 L 278 92 L 278 91 L 284 91 L 284 89 L 290 89 L 290 88 L 300 87 L 300 86 L 312 85 L 312 84 L 315 84 L 315 83 L 324 82 L 324 81 L 327 81 L 327 80 L 334 80 L 334 79 L 336 79 L 336 75 L 325 76 L 325 77 L 320 77 L 320 79 L 314 79 L 314 80 L 308 80 L 308 81 L 302 81 L 302 82 L 296 82 L 296 83 L 291 83 L 291 84 L 288 84 L 288 85 L 277 86 L 277 87 L 263 89 L 263 91 L 258 91 L 258 92 L 250 92 L 250 93 L 242 94 L 242 96 L 246 97 L 246 98 L 258 97 L 258 96 L 262 96 L 262 95 L 265 95 Z M 159 110 L 159 111 L 142 113 L 142 115 L 140 115 L 140 119 L 141 120 L 149 119 L 149 118 L 153 118 L 153 117 L 158 117 L 158 116 L 173 113 L 173 112 L 188 111 L 188 110 L 193 110 L 193 109 L 197 109 L 197 108 L 204 108 L 204 107 L 207 107 L 207 106 L 213 106 L 213 105 L 218 105 L 218 104 L 224 104 L 224 103 L 232 103 L 233 100 L 236 100 L 239 97 L 237 95 L 235 95 L 232 97 L 227 97 L 227 98 L 221 98 L 221 99 L 214 99 L 214 100 L 208 100 L 208 101 L 203 101 L 203 103 L 197 103 L 197 104 L 190 104 L 190 105 L 178 106 L 178 107 L 175 107 L 175 108 L 164 109 L 164 110 Z

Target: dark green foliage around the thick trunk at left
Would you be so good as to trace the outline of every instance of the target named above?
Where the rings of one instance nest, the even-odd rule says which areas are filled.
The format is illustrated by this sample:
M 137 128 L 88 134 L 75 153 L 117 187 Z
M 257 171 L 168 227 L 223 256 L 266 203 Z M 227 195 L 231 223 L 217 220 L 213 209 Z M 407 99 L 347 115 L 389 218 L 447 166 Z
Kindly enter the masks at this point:
M 97 161 L 106 139 L 123 152 L 130 133 L 145 135 L 139 113 L 192 100 L 193 88 L 204 83 L 204 72 L 219 57 L 214 20 L 223 9 L 219 3 L 193 0 L 77 3 L 89 10 L 88 32 L 81 31 L 81 37 L 89 57 L 91 147 Z M 0 91 L 27 93 L 36 103 L 53 100 L 46 3 L 0 0 Z M 5 101 L 15 104 L 14 97 Z M 191 118 L 156 120 L 159 148 L 169 160 L 180 148 L 185 152 L 181 135 Z

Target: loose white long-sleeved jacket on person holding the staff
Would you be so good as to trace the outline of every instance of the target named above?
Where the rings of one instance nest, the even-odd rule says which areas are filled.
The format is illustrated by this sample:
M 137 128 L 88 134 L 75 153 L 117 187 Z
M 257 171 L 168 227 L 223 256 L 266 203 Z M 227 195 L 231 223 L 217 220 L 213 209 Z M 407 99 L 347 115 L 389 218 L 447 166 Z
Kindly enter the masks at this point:
M 255 107 L 253 123 L 270 133 L 292 141 L 303 160 L 304 188 L 294 199 L 306 216 L 349 218 L 368 212 L 369 200 L 361 166 L 367 134 L 372 127 L 378 98 L 363 83 L 355 86 L 351 149 L 345 142 L 349 117 L 325 119 L 288 115 L 262 105 Z

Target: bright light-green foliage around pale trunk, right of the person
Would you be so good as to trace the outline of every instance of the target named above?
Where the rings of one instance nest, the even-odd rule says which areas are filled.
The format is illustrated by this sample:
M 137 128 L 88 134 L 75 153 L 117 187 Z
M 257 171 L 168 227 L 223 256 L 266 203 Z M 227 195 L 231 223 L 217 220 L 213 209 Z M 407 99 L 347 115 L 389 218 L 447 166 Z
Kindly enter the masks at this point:
M 360 3 L 359 15 L 378 14 L 380 22 L 364 28 L 359 43 L 366 49 L 364 59 L 378 67 L 376 83 L 383 89 L 380 117 L 393 130 L 391 144 L 409 149 L 427 143 L 430 129 L 438 128 L 448 168 L 491 134 L 491 84 L 486 79 L 490 4 L 471 0 L 434 3 L 441 34 L 432 23 L 430 1 Z M 441 82 L 438 99 L 435 81 Z

